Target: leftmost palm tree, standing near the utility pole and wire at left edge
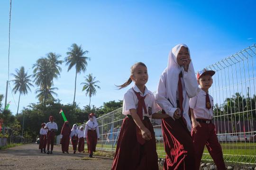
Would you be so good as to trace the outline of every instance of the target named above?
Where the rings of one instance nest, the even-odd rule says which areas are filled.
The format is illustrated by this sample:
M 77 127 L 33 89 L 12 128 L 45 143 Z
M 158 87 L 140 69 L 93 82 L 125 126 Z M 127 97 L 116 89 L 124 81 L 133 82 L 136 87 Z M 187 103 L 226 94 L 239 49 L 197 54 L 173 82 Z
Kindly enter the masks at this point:
M 31 92 L 31 89 L 29 86 L 34 87 L 34 85 L 32 85 L 30 82 L 32 82 L 32 80 L 30 80 L 30 77 L 32 75 L 27 76 L 27 72 L 25 73 L 25 68 L 22 66 L 18 69 L 15 70 L 16 74 L 11 74 L 12 76 L 15 77 L 14 80 L 11 80 L 14 82 L 14 87 L 12 89 L 12 91 L 16 94 L 17 92 L 19 92 L 19 97 L 18 97 L 18 107 L 19 107 L 19 100 L 20 100 L 20 95 L 21 94 L 27 94 L 29 90 Z M 18 115 L 18 109 L 17 109 L 17 115 Z

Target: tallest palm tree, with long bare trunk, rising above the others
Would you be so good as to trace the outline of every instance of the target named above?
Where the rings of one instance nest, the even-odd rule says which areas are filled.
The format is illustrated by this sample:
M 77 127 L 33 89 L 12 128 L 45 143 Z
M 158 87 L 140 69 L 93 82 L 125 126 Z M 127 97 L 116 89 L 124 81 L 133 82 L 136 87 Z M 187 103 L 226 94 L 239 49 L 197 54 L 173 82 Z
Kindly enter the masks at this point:
M 66 52 L 67 57 L 65 58 L 66 66 L 68 65 L 68 71 L 75 67 L 75 89 L 74 89 L 74 100 L 73 106 L 75 102 L 75 91 L 76 91 L 76 77 L 77 73 L 81 73 L 86 71 L 87 67 L 87 60 L 90 60 L 89 57 L 85 57 L 84 55 L 87 54 L 89 51 L 83 51 L 82 46 L 78 46 L 76 43 L 71 45 L 69 51 Z

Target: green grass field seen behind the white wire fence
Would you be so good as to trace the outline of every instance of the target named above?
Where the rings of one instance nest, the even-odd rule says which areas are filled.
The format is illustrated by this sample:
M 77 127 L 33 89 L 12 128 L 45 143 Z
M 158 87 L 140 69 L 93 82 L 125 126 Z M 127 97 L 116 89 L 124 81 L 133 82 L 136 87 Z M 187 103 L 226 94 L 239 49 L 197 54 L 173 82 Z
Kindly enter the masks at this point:
M 239 162 L 239 163 L 256 163 L 256 143 L 245 142 L 221 142 L 223 157 L 225 162 Z M 115 151 L 116 145 L 112 148 L 112 144 L 97 144 L 97 148 L 105 151 Z M 164 144 L 157 143 L 156 150 L 159 158 L 165 157 Z M 212 161 L 207 148 L 204 148 L 202 160 Z

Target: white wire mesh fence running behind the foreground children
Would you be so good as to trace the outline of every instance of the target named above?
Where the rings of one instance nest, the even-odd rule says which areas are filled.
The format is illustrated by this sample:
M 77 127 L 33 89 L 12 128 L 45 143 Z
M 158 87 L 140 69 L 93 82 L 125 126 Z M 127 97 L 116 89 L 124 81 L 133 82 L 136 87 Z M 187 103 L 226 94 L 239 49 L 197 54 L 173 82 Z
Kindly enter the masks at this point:
M 256 45 L 206 68 L 214 70 L 210 94 L 214 99 L 214 124 L 226 162 L 256 163 Z M 124 115 L 122 108 L 97 118 L 97 150 L 115 151 Z M 158 157 L 165 157 L 161 120 L 151 119 Z M 84 126 L 84 125 L 82 125 Z M 202 160 L 212 161 L 207 149 Z

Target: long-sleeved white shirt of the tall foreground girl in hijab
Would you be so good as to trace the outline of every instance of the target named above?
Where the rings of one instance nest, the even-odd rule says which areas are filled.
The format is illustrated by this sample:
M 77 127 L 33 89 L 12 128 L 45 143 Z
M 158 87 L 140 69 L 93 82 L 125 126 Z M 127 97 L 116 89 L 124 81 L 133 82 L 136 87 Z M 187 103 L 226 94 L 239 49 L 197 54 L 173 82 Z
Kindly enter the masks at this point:
M 166 86 L 165 86 L 166 80 L 167 80 L 167 70 L 165 69 L 163 74 L 160 76 L 157 95 L 155 99 L 156 99 L 156 102 L 159 104 L 159 106 L 163 108 L 165 112 L 174 119 L 174 112 L 177 110 L 177 108 L 174 108 L 173 106 L 171 106 L 170 102 L 168 101 L 168 96 L 166 93 Z M 195 89 L 195 85 L 193 84 L 194 82 L 192 82 L 191 80 L 192 80 L 192 77 L 190 77 L 186 71 L 183 71 L 183 77 L 181 78 L 182 89 L 183 89 L 183 117 L 186 120 L 187 128 L 189 131 L 191 131 L 191 128 L 192 128 L 191 121 L 188 115 L 189 96 L 194 96 L 195 91 L 197 91 L 197 88 Z M 178 87 L 176 91 L 176 99 L 177 100 L 179 99 Z

